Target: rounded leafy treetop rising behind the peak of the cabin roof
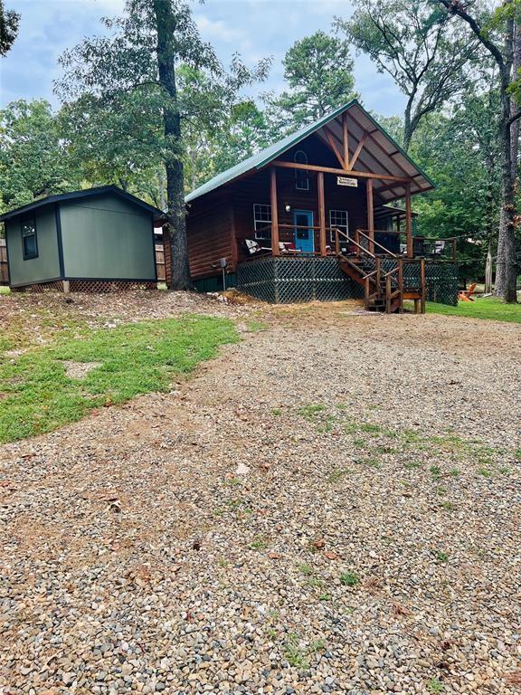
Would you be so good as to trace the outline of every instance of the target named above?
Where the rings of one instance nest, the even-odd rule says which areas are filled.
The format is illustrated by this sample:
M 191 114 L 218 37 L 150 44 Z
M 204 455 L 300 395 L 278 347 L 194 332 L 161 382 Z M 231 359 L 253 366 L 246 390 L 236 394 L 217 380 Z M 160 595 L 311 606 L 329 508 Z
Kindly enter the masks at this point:
M 325 32 L 294 43 L 284 60 L 289 90 L 271 99 L 287 129 L 300 128 L 355 97 L 349 44 Z

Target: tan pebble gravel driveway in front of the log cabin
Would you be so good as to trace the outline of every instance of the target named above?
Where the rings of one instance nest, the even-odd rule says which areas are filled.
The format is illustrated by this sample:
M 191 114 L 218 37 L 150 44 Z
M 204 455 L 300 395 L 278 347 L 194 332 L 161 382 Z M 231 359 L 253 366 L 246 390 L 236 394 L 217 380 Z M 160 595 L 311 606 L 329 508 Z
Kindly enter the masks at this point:
M 255 310 L 0 448 L 0 692 L 520 692 L 521 328 Z

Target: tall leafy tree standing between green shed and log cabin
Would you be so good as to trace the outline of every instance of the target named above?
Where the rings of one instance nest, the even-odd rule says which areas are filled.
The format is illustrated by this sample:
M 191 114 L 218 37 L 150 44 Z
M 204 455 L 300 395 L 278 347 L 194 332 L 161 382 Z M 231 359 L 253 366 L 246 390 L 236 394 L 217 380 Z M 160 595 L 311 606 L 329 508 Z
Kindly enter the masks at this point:
M 214 108 L 191 114 L 183 111 L 178 68 L 185 64 L 203 72 L 208 81 L 219 85 L 227 100 L 232 100 L 244 84 L 265 75 L 268 63 L 261 62 L 258 69 L 248 71 L 235 57 L 227 74 L 212 46 L 202 41 L 185 0 L 127 0 L 125 14 L 105 18 L 103 24 L 108 36 L 85 39 L 63 54 L 65 73 L 56 90 L 67 103 L 81 98 L 95 100 L 106 117 L 110 115 L 116 122 L 121 104 L 135 100 L 142 119 L 151 124 L 139 156 L 147 152 L 151 161 L 160 161 L 165 167 L 171 289 L 189 289 L 182 122 L 196 117 L 204 123 L 216 114 Z M 208 106 L 208 101 L 205 104 Z M 223 101 L 219 109 L 223 109 Z M 137 143 L 136 129 L 133 137 Z

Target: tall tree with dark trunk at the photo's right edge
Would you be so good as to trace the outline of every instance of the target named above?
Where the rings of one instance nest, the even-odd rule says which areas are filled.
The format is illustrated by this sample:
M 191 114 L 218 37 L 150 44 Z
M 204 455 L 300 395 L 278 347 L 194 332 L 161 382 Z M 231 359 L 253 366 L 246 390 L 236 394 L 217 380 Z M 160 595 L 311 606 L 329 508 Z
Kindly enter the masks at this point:
M 478 42 L 496 62 L 499 73 L 500 109 L 498 139 L 501 148 L 502 191 L 497 238 L 496 294 L 516 302 L 516 169 L 512 157 L 512 126 L 521 117 L 515 94 L 519 75 L 514 72 L 516 27 L 521 25 L 520 0 L 504 0 L 493 14 L 481 5 L 462 0 L 438 0 L 447 16 L 457 16 L 469 26 Z M 516 148 L 516 143 L 515 143 Z

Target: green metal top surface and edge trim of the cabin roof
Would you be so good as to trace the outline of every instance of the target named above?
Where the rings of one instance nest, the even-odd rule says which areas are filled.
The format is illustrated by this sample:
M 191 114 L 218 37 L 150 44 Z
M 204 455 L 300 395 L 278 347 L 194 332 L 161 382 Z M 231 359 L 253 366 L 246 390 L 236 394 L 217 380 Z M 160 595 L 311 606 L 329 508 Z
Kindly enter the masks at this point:
M 431 181 L 431 178 L 427 176 L 422 171 L 422 169 L 412 161 L 411 157 L 409 157 L 407 153 L 404 152 L 403 148 L 401 148 L 393 140 L 393 138 L 391 138 L 391 136 L 384 130 L 384 128 L 382 128 L 382 126 L 380 126 L 374 120 L 371 114 L 369 114 L 364 109 L 360 102 L 354 99 L 344 104 L 343 106 L 340 106 L 337 109 L 331 111 L 330 113 L 327 113 L 326 116 L 323 116 L 321 119 L 316 120 L 314 123 L 309 124 L 305 128 L 300 129 L 295 133 L 291 133 L 286 138 L 280 139 L 278 142 L 275 142 L 273 145 L 270 145 L 269 148 L 265 148 L 261 150 L 261 152 L 258 152 L 256 155 L 252 155 L 252 157 L 244 159 L 242 162 L 235 165 L 235 167 L 231 167 L 230 169 L 223 171 L 221 174 L 213 176 L 213 178 L 210 179 L 210 181 L 207 181 L 205 184 L 203 184 L 203 186 L 195 188 L 195 190 L 192 191 L 192 193 L 186 195 L 185 202 L 190 203 L 193 200 L 195 200 L 195 198 L 199 198 L 201 197 L 201 195 L 206 195 L 207 193 L 210 193 L 216 188 L 219 188 L 224 184 L 230 183 L 234 179 L 239 178 L 244 174 L 248 174 L 253 169 L 261 169 L 262 167 L 266 167 L 274 159 L 276 159 L 295 145 L 298 145 L 298 143 L 300 143 L 305 138 L 308 138 L 310 135 L 313 135 L 313 133 L 317 132 L 317 130 L 321 129 L 324 125 L 330 123 L 332 120 L 336 119 L 338 116 L 344 113 L 344 111 L 348 111 L 349 109 L 353 109 L 354 107 L 356 109 L 360 109 L 360 111 L 365 116 L 365 119 L 368 119 L 374 125 L 374 128 L 378 129 L 382 133 L 385 140 L 392 145 L 392 148 L 395 148 L 395 153 L 393 153 L 393 155 L 396 156 L 399 154 L 402 160 L 407 162 L 412 167 L 412 169 L 414 170 L 414 175 L 416 177 L 422 177 L 424 185 L 420 186 L 418 190 L 413 190 L 412 192 L 421 193 L 423 190 L 430 190 L 431 188 L 433 188 L 434 183 Z M 377 157 L 377 155 L 374 156 L 374 158 L 375 157 Z M 399 174 L 400 173 L 398 172 L 398 175 Z M 394 195 L 394 198 L 397 197 L 401 197 L 401 194 Z

